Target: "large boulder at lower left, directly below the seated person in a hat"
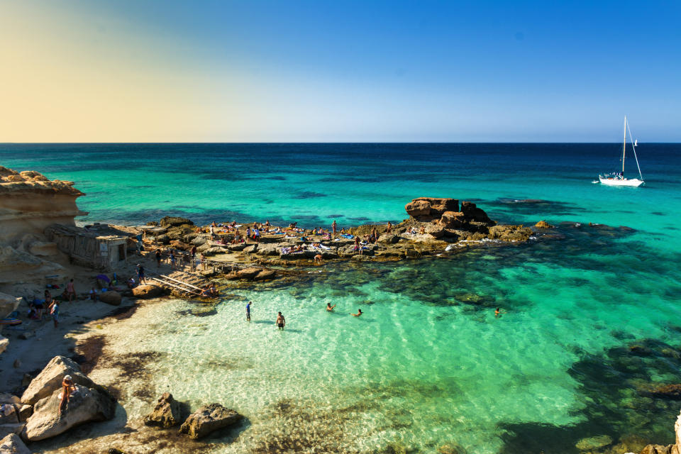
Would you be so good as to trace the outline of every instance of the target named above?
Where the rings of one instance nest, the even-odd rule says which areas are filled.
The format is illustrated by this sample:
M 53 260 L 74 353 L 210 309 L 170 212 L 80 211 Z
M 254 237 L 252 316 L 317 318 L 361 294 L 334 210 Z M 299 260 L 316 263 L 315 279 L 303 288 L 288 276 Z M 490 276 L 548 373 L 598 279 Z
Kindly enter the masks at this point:
M 59 414 L 61 389 L 40 399 L 33 415 L 26 421 L 24 438 L 29 441 L 45 440 L 64 433 L 74 426 L 90 421 L 106 421 L 114 417 L 115 403 L 108 395 L 94 388 L 75 385 L 65 411 Z

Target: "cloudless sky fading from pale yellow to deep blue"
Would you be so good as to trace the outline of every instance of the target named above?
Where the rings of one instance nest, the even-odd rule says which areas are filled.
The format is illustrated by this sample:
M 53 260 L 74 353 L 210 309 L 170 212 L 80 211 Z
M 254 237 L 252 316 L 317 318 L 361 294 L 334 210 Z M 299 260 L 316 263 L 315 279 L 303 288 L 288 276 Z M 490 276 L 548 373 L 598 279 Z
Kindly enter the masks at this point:
M 0 0 L 1 142 L 681 142 L 681 1 Z

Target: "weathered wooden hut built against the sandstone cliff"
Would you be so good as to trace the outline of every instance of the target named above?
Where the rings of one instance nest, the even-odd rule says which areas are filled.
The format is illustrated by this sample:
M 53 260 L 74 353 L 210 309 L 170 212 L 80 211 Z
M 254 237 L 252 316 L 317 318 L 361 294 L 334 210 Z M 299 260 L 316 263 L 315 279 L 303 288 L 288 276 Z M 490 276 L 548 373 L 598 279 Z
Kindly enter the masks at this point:
M 97 270 L 114 270 L 128 258 L 128 248 L 135 249 L 138 231 L 133 228 L 94 224 L 76 227 L 52 224 L 45 236 L 57 244 L 77 265 Z

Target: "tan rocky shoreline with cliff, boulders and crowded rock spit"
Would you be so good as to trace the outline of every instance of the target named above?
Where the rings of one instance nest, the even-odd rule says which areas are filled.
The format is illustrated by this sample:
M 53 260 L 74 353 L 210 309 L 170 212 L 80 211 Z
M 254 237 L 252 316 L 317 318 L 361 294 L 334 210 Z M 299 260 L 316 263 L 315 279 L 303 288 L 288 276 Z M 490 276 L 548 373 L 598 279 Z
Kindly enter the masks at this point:
M 6 414 L 0 416 L 0 453 L 30 453 L 24 443 L 40 452 L 54 453 L 162 452 L 170 445 L 185 452 L 209 452 L 215 448 L 212 443 L 195 440 L 213 430 L 242 423 L 243 416 L 223 406 L 224 403 L 202 405 L 192 413 L 187 404 L 175 400 L 172 393 L 181 397 L 181 390 L 175 389 L 162 394 L 155 406 L 149 408 L 144 421 L 128 421 L 125 409 L 117 401 L 121 393 L 126 393 L 126 399 L 145 394 L 145 380 L 152 379 L 144 375 L 144 364 L 153 358 L 143 353 L 129 353 L 126 358 L 112 355 L 107 352 L 107 336 L 113 336 L 117 322 L 135 317 L 139 308 L 160 304 L 156 297 L 171 292 L 186 297 L 187 293 L 158 281 L 133 289 L 111 287 L 108 292 L 100 292 L 96 301 L 87 301 L 87 288 L 98 272 L 114 271 L 127 279 L 134 274 L 135 264 L 142 263 L 148 270 L 156 269 L 159 276 L 175 281 L 189 283 L 188 275 L 199 279 L 191 281 L 196 284 L 215 279 L 224 290 L 272 279 L 295 281 L 305 270 L 331 262 L 446 258 L 475 246 L 560 239 L 560 233 L 551 233 L 553 226 L 546 221 L 531 228 L 499 225 L 475 204 L 457 199 L 419 197 L 406 204 L 404 209 L 409 217 L 400 223 L 366 224 L 336 234 L 318 228 L 300 229 L 295 224 L 277 227 L 256 222 L 255 228 L 262 233 L 254 240 L 243 238 L 246 226 L 254 223 L 244 224 L 240 230 L 229 224 L 216 224 L 211 232 L 211 226 L 196 226 L 187 218 L 177 217 L 165 217 L 148 226 L 95 224 L 78 228 L 74 216 L 83 213 L 75 206 L 75 199 L 84 194 L 70 182 L 50 182 L 37 172 L 18 173 L 0 167 L 0 194 L 4 194 L 0 201 L 0 290 L 6 292 L 0 294 L 2 316 L 17 310 L 25 314 L 29 298 L 40 297 L 45 287 L 54 288 L 55 282 L 63 284 L 67 277 L 74 277 L 81 289 L 77 301 L 67 303 L 62 319 L 65 327 L 60 330 L 52 329 L 43 320 L 24 320 L 21 333 L 11 331 L 7 333 L 9 339 L 0 336 L 0 353 L 8 348 L 10 339 L 13 343 L 0 356 L 0 377 L 5 384 L 0 391 L 6 392 L 0 394 L 0 404 L 6 405 Z M 62 227 L 55 229 L 55 225 Z M 55 239 L 55 231 L 84 240 L 122 238 L 123 247 L 143 245 L 145 253 L 118 260 L 113 270 L 102 265 L 104 261 L 87 265 L 92 258 L 63 250 Z M 140 241 L 138 236 L 144 238 Z M 165 260 L 172 253 L 183 269 L 171 269 L 165 263 L 155 268 L 157 249 Z M 194 258 L 190 257 L 192 249 L 196 253 Z M 92 257 L 99 260 L 111 255 L 95 253 Z M 93 371 L 96 377 L 90 377 Z M 67 416 L 59 418 L 56 409 L 65 375 L 73 377 L 77 398 L 70 404 Z M 135 389 L 114 385 L 131 377 L 138 379 Z M 678 385 L 645 391 L 670 399 L 681 395 Z M 152 399 L 144 397 L 145 402 Z M 681 416 L 675 429 L 675 445 L 648 445 L 640 453 L 681 454 Z M 76 443 L 70 441 L 70 433 L 79 433 Z M 294 447 L 294 441 L 291 443 Z M 596 436 L 580 440 L 576 448 L 583 454 L 620 454 L 633 445 L 636 443 L 615 445 L 608 436 Z M 274 452 L 263 449 L 262 452 Z M 409 449 L 389 445 L 381 452 L 407 453 Z M 464 450 L 453 443 L 441 446 L 438 452 L 463 454 Z

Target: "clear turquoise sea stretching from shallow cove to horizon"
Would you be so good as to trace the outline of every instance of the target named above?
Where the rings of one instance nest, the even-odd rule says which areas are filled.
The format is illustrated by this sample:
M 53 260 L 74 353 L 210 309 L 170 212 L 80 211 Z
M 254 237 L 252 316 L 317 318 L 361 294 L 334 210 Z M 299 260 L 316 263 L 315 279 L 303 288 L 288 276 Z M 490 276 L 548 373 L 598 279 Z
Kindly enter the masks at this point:
M 624 453 L 672 443 L 681 409 L 655 392 L 681 383 L 681 145 L 638 145 L 645 187 L 592 184 L 620 153 L 616 143 L 0 144 L 0 165 L 76 182 L 81 223 L 172 214 L 355 226 L 401 221 L 418 196 L 475 201 L 503 223 L 546 220 L 562 239 L 326 265 L 211 311 L 167 301 L 131 349 L 157 353 L 154 396 L 171 389 L 247 417 L 216 452 L 565 454 L 620 443 Z M 351 317 L 358 308 L 365 315 Z M 133 399 L 126 413 L 149 408 Z

